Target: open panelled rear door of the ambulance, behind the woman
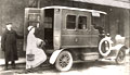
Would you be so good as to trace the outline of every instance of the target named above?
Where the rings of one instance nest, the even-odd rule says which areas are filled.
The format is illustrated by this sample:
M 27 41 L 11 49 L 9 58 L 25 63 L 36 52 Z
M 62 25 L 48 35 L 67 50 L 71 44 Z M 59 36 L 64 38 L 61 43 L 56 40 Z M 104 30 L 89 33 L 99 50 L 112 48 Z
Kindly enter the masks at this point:
M 40 9 L 26 8 L 25 18 L 24 18 L 24 50 L 26 50 L 26 43 L 27 43 L 27 35 L 28 35 L 27 27 L 29 25 L 35 26 L 37 24 L 40 24 Z

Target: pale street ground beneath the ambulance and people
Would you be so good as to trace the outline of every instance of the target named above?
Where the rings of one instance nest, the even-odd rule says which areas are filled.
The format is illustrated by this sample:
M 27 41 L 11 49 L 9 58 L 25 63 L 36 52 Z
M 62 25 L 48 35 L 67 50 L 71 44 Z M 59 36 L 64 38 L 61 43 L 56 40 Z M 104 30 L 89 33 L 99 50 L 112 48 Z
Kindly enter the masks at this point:
M 68 72 L 58 72 L 53 66 L 43 65 L 32 73 L 25 73 L 25 64 L 18 64 L 17 67 L 2 71 L 3 66 L 0 66 L 0 75 L 129 75 L 130 57 L 126 58 L 126 63 L 122 65 L 116 65 L 112 61 L 76 63 Z

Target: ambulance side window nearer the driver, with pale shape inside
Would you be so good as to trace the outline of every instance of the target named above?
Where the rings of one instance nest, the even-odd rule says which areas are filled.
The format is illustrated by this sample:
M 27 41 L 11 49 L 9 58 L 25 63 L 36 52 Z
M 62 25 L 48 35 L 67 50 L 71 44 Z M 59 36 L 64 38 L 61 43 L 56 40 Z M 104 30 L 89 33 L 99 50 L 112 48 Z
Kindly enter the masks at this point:
M 78 29 L 87 29 L 87 16 L 78 17 Z

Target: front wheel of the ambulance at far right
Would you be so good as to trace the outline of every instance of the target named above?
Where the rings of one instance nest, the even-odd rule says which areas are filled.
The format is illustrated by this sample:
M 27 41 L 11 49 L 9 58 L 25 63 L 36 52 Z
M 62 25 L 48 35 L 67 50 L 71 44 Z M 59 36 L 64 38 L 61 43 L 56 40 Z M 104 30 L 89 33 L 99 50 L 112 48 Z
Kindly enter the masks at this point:
M 115 59 L 116 63 L 117 64 L 125 63 L 125 57 L 126 57 L 125 50 L 120 50 L 117 58 Z

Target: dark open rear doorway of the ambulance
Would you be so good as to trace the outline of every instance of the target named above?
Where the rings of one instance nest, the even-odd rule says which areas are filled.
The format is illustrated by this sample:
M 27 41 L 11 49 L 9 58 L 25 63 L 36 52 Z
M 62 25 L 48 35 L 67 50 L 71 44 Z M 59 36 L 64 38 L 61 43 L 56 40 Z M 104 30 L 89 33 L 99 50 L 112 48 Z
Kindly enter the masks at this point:
M 46 49 L 53 49 L 53 17 L 54 10 L 47 9 L 44 10 L 44 41 Z

